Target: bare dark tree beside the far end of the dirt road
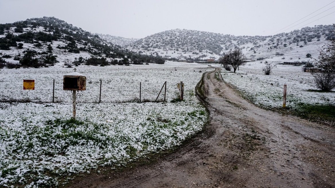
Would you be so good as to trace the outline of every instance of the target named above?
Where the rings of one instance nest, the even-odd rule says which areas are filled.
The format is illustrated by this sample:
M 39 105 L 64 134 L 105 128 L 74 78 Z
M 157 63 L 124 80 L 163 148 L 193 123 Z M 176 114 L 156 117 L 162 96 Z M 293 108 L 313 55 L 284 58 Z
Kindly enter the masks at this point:
M 240 65 L 245 65 L 246 62 L 243 61 L 246 59 L 246 56 L 243 54 L 242 49 L 238 48 L 233 51 L 229 51 L 221 58 L 221 65 L 231 65 L 231 67 L 234 69 L 234 73 L 236 72 L 236 69 Z

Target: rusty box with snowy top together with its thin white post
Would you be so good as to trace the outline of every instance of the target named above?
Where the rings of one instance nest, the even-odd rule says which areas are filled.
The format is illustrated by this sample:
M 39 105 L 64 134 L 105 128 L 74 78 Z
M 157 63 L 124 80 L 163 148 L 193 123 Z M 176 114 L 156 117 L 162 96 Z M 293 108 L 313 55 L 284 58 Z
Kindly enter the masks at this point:
M 78 72 L 64 75 L 63 90 L 70 90 L 72 92 L 73 119 L 76 119 L 76 91 L 86 90 L 86 76 Z

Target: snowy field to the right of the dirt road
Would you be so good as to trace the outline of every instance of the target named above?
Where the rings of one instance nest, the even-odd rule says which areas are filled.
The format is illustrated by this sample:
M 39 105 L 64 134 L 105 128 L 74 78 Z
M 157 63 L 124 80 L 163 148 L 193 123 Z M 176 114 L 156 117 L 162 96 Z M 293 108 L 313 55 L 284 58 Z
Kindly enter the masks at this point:
M 334 92 L 312 92 L 318 90 L 311 73 L 303 72 L 302 66 L 277 64 L 270 75 L 262 72 L 265 61 L 277 64 L 279 59 L 255 61 L 241 66 L 236 74 L 222 68 L 225 82 L 235 86 L 242 94 L 258 106 L 279 108 L 283 105 L 283 87 L 287 85 L 286 107 L 297 108 L 298 104 L 334 104 Z M 261 63 L 262 62 L 262 63 Z M 220 67 L 220 65 L 213 65 Z

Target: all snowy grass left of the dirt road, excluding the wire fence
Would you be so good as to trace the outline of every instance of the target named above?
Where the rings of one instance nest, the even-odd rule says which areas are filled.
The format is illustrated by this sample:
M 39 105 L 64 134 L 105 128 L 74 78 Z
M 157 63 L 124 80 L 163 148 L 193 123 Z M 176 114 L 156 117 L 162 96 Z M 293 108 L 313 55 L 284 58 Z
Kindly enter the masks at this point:
M 145 154 L 172 148 L 202 129 L 207 112 L 194 95 L 207 65 L 77 67 L 87 78 L 115 82 L 184 81 L 185 102 L 78 103 L 71 121 L 70 103 L 0 103 L 0 186 L 55 186 L 72 174 L 98 166 L 117 168 Z M 1 79 L 62 78 L 72 69 L 2 69 Z M 173 99 L 172 97 L 171 99 Z M 171 101 L 171 100 L 169 100 Z M 61 180 L 61 181 L 60 181 Z

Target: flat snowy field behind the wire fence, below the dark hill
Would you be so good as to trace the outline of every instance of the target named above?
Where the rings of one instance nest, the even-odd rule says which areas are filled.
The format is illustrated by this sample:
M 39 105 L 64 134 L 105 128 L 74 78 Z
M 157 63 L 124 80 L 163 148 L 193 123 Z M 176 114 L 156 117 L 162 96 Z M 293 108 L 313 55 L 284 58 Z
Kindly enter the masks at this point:
M 55 79 L 55 101 L 71 102 L 70 91 L 63 91 L 63 75 L 73 72 L 73 69 L 64 68 L 62 63 L 57 63 L 54 67 L 39 69 L 0 69 L 0 99 L 3 96 L 17 99 L 24 99 L 28 96 L 32 101 L 38 101 L 34 100 L 34 97 L 38 97 L 43 102 L 51 102 L 53 79 Z M 102 68 L 82 65 L 76 69 L 77 72 L 86 76 L 87 81 L 86 91 L 78 97 L 79 103 L 99 100 L 100 80 L 102 80 L 101 100 L 103 102 L 139 99 L 140 82 L 142 100 L 146 96 L 151 96 L 150 101 L 154 101 L 165 81 L 167 82 L 167 101 L 171 101 L 176 98 L 176 92 L 178 92 L 176 83 L 183 81 L 187 89 L 192 89 L 193 84 L 199 81 L 194 78 L 202 74 L 199 71 L 207 70 L 208 66 L 170 62 L 163 66 L 150 64 Z M 35 80 L 36 89 L 22 90 L 22 80 Z M 163 93 L 160 94 L 160 100 L 163 99 Z

